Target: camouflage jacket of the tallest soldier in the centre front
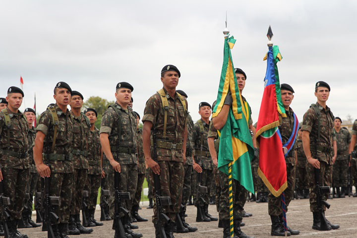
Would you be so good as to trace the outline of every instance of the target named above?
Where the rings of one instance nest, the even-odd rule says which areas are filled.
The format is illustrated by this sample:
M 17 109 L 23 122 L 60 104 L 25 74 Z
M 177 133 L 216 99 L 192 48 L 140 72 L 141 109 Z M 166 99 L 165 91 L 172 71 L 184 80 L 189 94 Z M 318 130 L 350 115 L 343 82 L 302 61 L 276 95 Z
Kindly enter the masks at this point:
M 175 93 L 175 97 L 172 98 L 165 89 L 164 91 L 169 103 L 169 110 L 167 111 L 166 138 L 163 139 L 165 110 L 158 93 L 151 96 L 146 102 L 142 121 L 150 121 L 153 124 L 152 130 L 155 135 L 156 145 L 158 144 L 158 141 L 164 141 L 183 146 L 183 134 L 186 127 L 187 113 L 184 111 L 177 93 Z M 187 101 L 184 101 L 187 105 Z M 157 146 L 156 155 L 154 155 L 154 150 L 151 150 L 151 158 L 156 158 L 158 161 L 183 162 L 183 149 L 167 149 Z

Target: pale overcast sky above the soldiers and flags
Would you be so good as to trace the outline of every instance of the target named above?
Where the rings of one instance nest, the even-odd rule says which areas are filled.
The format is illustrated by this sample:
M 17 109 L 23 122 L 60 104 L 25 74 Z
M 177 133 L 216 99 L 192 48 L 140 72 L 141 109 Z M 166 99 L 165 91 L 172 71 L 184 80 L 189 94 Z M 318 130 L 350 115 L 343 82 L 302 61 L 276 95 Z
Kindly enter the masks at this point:
M 357 118 L 355 0 L 270 1 L 48 1 L 2 0 L 0 3 L 0 97 L 24 80 L 26 107 L 37 111 L 54 102 L 57 82 L 67 82 L 84 100 L 114 100 L 118 82 L 133 85 L 134 111 L 162 87 L 161 68 L 176 65 L 178 89 L 199 119 L 198 104 L 212 103 L 223 62 L 223 29 L 237 39 L 235 67 L 246 75 L 243 96 L 258 119 L 266 61 L 266 33 L 271 25 L 281 83 L 295 90 L 291 105 L 299 120 L 316 102 L 314 84 L 331 86 L 327 105 L 335 116 Z

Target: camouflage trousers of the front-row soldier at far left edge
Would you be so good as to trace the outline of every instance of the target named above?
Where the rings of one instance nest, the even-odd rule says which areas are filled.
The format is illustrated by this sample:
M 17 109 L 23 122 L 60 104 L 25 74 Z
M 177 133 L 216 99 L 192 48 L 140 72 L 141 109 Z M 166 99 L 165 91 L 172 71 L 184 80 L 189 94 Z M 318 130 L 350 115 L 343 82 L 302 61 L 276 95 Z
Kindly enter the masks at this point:
M 11 221 L 21 219 L 29 175 L 29 169 L 2 168 L 3 195 L 10 198 L 10 205 L 7 205 L 7 209 Z

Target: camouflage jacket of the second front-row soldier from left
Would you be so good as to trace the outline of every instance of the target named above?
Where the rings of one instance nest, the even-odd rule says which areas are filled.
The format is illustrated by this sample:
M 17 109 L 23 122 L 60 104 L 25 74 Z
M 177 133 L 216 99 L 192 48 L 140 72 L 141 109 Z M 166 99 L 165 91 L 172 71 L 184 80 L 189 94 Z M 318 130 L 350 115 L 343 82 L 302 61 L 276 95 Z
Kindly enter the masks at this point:
M 51 112 L 46 110 L 40 116 L 36 131 L 41 131 L 45 134 L 43 145 L 44 163 L 51 165 L 51 170 L 54 173 L 73 173 L 73 164 L 71 160 L 48 160 L 46 156 L 50 154 L 66 155 L 71 158 L 73 149 L 73 119 L 67 109 L 65 113 L 55 104 L 55 110 L 59 119 L 57 127 L 57 137 L 55 149 L 52 151 L 52 143 L 54 140 L 54 123 Z

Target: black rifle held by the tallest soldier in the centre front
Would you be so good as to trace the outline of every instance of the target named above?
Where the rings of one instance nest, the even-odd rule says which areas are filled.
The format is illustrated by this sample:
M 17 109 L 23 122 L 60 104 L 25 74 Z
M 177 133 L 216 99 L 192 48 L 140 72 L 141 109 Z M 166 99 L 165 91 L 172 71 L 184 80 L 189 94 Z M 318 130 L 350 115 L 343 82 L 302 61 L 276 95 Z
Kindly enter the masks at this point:
M 154 141 L 154 161 L 156 161 L 156 140 L 155 134 L 153 135 Z M 171 219 L 164 213 L 163 206 L 171 205 L 171 198 L 169 196 L 163 196 L 161 193 L 161 185 L 160 185 L 160 175 L 152 173 L 154 176 L 154 189 L 155 189 L 155 203 L 157 210 L 157 223 L 156 225 L 159 227 L 160 238 L 166 238 L 165 229 L 163 225 L 169 225 L 172 221 Z

